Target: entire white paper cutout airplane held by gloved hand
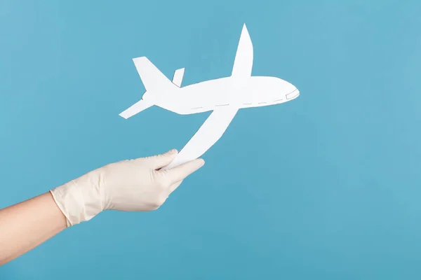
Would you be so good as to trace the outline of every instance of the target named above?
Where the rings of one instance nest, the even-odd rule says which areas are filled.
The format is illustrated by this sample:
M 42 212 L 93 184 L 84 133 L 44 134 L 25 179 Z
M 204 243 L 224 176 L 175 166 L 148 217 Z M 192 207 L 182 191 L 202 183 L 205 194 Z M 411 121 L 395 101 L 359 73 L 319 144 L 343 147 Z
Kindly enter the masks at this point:
M 146 92 L 142 99 L 120 113 L 130 118 L 150 106 L 159 106 L 181 115 L 213 111 L 170 165 L 169 169 L 195 160 L 222 137 L 239 109 L 281 104 L 297 98 L 299 90 L 276 77 L 251 76 L 253 44 L 243 25 L 229 77 L 181 86 L 185 69 L 175 71 L 168 80 L 146 57 L 133 59 Z

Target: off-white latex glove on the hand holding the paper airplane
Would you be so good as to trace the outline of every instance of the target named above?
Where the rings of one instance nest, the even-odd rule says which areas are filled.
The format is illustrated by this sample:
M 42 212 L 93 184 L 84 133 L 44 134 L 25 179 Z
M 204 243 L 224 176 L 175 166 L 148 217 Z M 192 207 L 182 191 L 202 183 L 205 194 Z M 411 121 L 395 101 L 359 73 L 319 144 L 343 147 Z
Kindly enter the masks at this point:
M 67 227 L 88 221 L 103 210 L 151 211 L 158 209 L 185 177 L 203 166 L 201 159 L 172 169 L 172 150 L 136 160 L 124 160 L 95 169 L 51 190 L 67 218 Z

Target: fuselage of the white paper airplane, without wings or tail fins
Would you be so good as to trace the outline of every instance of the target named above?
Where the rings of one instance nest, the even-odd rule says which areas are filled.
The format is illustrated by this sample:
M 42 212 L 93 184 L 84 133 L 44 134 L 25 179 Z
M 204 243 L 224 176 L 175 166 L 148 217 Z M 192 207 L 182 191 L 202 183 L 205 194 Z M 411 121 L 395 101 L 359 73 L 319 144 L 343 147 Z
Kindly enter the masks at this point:
M 166 92 L 145 92 L 143 99 L 181 115 L 213 111 L 227 106 L 238 109 L 269 106 L 298 97 L 298 89 L 286 80 L 275 77 L 251 76 L 206 80 L 176 87 Z

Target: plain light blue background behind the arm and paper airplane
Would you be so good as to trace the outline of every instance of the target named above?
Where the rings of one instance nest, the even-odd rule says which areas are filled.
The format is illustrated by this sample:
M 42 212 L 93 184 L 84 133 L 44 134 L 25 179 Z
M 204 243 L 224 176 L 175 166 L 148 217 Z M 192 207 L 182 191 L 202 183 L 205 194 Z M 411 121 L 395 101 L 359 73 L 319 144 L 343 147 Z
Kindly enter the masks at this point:
M 420 12 L 420 1 L 0 1 L 0 207 L 182 148 L 208 113 L 118 116 L 144 91 L 133 57 L 168 77 L 186 67 L 183 85 L 228 76 L 246 22 L 253 75 L 301 92 L 239 111 L 159 211 L 102 213 L 0 279 L 420 279 Z

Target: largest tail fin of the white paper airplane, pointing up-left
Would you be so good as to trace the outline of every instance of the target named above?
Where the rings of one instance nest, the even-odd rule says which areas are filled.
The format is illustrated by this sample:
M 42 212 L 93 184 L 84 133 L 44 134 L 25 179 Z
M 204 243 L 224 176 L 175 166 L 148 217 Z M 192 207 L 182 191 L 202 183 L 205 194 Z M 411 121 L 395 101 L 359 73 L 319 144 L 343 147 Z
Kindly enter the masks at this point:
M 133 62 L 149 94 L 159 94 L 178 88 L 147 57 L 134 58 Z

